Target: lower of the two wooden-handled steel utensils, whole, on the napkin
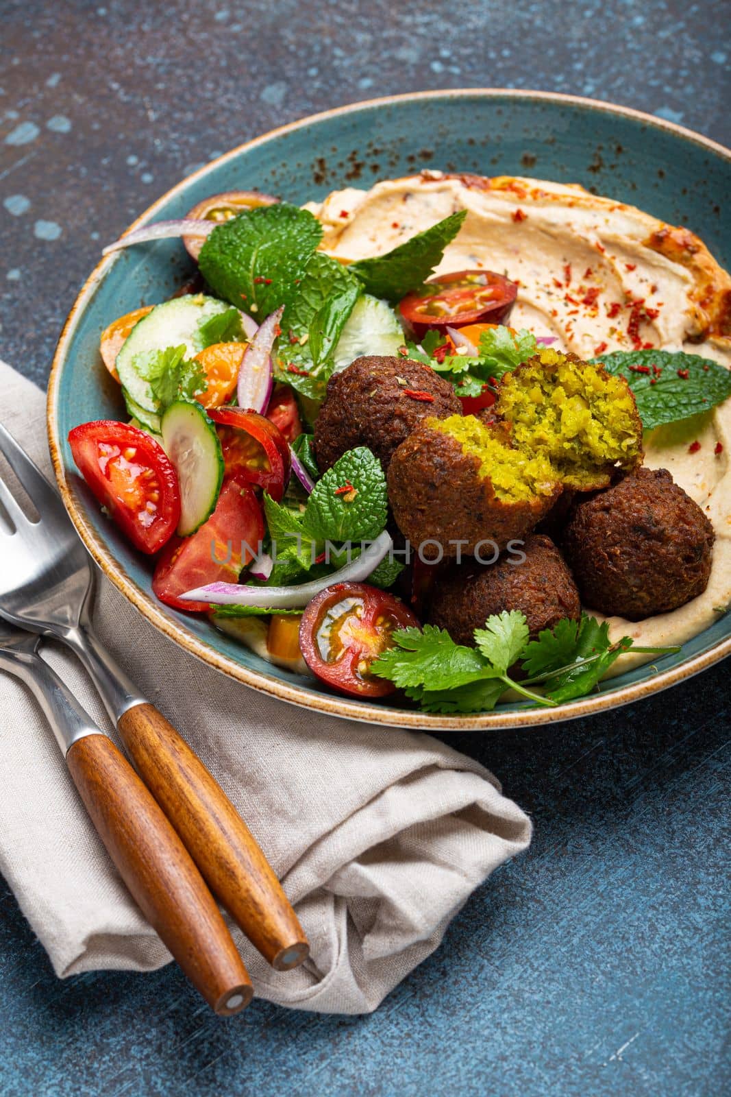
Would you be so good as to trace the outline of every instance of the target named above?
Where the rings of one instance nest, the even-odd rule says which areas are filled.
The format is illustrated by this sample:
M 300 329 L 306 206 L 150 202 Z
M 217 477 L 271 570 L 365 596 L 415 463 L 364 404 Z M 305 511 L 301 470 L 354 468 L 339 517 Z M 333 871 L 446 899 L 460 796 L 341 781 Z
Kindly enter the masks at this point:
M 248 1006 L 251 981 L 179 836 L 112 740 L 37 654 L 39 636 L 0 621 L 0 669 L 34 693 L 94 827 L 147 920 L 217 1014 Z

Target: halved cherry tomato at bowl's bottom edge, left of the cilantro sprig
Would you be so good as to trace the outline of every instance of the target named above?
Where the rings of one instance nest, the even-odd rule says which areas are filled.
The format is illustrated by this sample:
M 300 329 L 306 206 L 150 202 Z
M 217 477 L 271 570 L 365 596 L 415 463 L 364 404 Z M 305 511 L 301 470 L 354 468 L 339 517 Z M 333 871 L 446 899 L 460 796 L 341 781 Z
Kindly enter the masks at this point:
M 299 646 L 321 681 L 353 697 L 386 697 L 396 687 L 369 672 L 391 647 L 396 629 L 419 626 L 411 610 L 385 590 L 365 583 L 335 583 L 316 595 L 302 614 Z

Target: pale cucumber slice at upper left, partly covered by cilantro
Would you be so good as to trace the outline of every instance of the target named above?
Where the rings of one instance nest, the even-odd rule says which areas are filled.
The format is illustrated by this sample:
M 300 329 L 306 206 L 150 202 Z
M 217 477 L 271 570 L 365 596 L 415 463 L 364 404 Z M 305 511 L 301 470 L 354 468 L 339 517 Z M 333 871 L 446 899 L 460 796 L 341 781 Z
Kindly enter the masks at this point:
M 226 302 L 206 297 L 203 293 L 174 297 L 156 305 L 151 313 L 138 320 L 116 357 L 117 373 L 126 395 L 144 411 L 157 412 L 159 408 L 149 382 L 140 377 L 135 367 L 137 355 L 185 344 L 186 358 L 194 358 L 204 347 L 201 325 L 230 307 Z M 129 414 L 140 418 L 132 408 Z

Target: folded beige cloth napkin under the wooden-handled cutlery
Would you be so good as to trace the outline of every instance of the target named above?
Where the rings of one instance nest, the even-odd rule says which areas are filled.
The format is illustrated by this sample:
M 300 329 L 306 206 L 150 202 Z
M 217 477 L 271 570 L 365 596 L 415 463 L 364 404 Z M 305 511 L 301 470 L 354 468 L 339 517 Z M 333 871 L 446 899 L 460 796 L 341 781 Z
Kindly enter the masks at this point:
M 52 478 L 44 396 L 3 363 L 0 420 Z M 473 889 L 528 845 L 530 823 L 494 777 L 436 739 L 308 713 L 232 681 L 160 635 L 106 580 L 96 624 L 240 810 L 296 906 L 311 959 L 294 972 L 273 972 L 233 930 L 261 997 L 375 1009 L 437 948 Z M 45 651 L 110 730 L 75 659 Z M 56 973 L 168 963 L 31 694 L 1 674 L 0 750 L 0 871 Z

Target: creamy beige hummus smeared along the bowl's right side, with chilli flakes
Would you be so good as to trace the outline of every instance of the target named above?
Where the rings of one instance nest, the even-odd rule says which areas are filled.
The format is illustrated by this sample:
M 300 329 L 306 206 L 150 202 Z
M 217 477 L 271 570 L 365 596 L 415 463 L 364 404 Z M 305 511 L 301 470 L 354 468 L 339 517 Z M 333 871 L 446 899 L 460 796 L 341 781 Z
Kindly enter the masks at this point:
M 506 274 L 518 283 L 513 327 L 553 336 L 557 349 L 582 358 L 658 348 L 731 369 L 731 278 L 703 241 L 582 186 L 422 172 L 336 191 L 307 208 L 323 226 L 322 250 L 343 262 L 384 255 L 466 210 L 436 274 Z M 667 468 L 713 523 L 713 564 L 698 598 L 644 621 L 613 618 L 610 632 L 648 646 L 683 644 L 731 602 L 731 400 L 647 432 L 644 448 L 646 465 Z M 647 660 L 627 656 L 613 671 Z

